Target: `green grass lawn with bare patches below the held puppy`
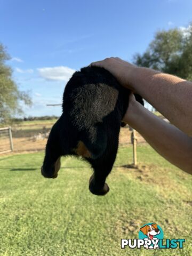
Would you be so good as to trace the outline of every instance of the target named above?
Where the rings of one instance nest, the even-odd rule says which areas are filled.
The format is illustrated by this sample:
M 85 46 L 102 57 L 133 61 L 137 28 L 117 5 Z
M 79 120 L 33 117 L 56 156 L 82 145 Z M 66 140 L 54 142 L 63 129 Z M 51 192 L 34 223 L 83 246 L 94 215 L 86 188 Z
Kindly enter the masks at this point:
M 120 148 L 108 177 L 109 193 L 92 195 L 88 164 L 63 158 L 57 179 L 40 174 L 43 153 L 0 157 L 0 255 L 191 255 L 191 177 L 138 147 Z M 164 238 L 185 238 L 184 249 L 121 249 L 121 238 L 138 238 L 156 222 Z

